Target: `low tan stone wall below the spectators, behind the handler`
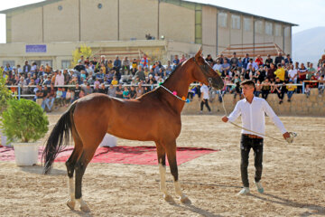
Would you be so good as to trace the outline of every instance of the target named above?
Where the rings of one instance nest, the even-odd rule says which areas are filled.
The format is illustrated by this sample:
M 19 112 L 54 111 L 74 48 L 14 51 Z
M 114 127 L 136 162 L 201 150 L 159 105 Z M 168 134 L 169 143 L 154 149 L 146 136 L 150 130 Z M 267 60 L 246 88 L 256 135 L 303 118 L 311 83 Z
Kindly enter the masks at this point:
M 305 94 L 293 94 L 292 101 L 287 101 L 287 95 L 284 96 L 283 103 L 279 104 L 277 94 L 269 94 L 267 102 L 274 109 L 274 112 L 278 116 L 314 116 L 314 117 L 325 117 L 325 94 L 319 96 L 318 90 L 311 90 L 311 96 L 306 97 Z M 234 99 L 233 94 L 226 94 L 224 96 L 225 108 L 229 113 L 235 108 L 238 99 Z M 209 102 L 209 106 L 212 109 L 213 114 L 223 115 L 225 114 L 222 108 L 222 103 L 218 101 L 218 97 Z M 197 96 L 194 97 L 193 101 L 186 104 L 182 110 L 183 115 L 194 115 L 200 111 L 200 100 Z M 203 114 L 208 114 L 208 110 L 204 107 Z

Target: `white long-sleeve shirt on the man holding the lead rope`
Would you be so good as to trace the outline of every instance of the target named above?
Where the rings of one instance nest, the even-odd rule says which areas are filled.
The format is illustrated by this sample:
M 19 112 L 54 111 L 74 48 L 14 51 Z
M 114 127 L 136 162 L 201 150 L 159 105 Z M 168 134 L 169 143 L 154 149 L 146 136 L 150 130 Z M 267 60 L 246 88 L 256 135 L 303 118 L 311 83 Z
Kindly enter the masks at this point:
M 275 126 L 280 129 L 282 134 L 287 132 L 280 118 L 275 115 L 274 110 L 262 98 L 254 97 L 252 103 L 249 103 L 246 99 L 238 101 L 235 109 L 229 115 L 228 121 L 234 122 L 241 115 L 244 128 L 265 134 L 265 113 L 273 120 Z M 242 134 L 253 134 L 263 137 L 260 134 L 255 134 L 245 129 L 242 129 Z

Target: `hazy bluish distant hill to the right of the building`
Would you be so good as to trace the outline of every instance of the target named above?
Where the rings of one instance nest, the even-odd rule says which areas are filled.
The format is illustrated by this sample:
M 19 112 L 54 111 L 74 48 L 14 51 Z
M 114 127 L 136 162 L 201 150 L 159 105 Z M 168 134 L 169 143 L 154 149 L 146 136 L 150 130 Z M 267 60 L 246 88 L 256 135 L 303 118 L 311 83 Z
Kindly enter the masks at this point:
M 317 63 L 325 52 L 325 26 L 292 34 L 292 59 Z

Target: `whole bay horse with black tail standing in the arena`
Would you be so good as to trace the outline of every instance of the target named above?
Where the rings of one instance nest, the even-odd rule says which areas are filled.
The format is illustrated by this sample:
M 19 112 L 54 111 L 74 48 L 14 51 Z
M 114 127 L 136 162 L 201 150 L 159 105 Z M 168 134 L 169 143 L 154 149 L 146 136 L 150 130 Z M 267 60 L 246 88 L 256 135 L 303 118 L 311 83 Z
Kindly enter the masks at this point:
M 181 192 L 179 183 L 176 138 L 181 133 L 181 109 L 185 104 L 184 98 L 178 96 L 187 96 L 190 83 L 195 80 L 218 90 L 224 85 L 218 73 L 202 58 L 201 49 L 195 57 L 182 62 L 161 87 L 137 99 L 116 99 L 96 93 L 78 99 L 70 106 L 52 129 L 42 158 L 46 175 L 51 172 L 55 157 L 67 146 L 72 135 L 75 146 L 66 162 L 70 189 L 67 205 L 71 210 L 78 202 L 81 211 L 90 212 L 82 199 L 82 176 L 106 133 L 125 139 L 154 141 L 163 198 L 172 200 L 165 185 L 167 154 L 175 192 L 180 196 L 181 203 L 190 203 L 190 199 Z

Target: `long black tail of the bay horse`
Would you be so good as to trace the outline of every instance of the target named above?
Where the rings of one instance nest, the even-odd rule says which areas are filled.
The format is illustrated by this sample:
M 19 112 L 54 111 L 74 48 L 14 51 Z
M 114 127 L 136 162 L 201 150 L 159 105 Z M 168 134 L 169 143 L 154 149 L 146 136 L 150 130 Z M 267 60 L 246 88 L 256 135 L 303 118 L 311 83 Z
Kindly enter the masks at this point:
M 55 127 L 51 131 L 50 137 L 46 141 L 45 148 L 42 153 L 42 162 L 44 162 L 44 175 L 51 173 L 51 167 L 54 159 L 62 151 L 62 149 L 68 145 L 70 141 L 70 133 L 73 124 L 73 112 L 76 108 L 76 102 L 70 106 L 56 123 Z

